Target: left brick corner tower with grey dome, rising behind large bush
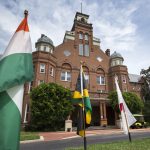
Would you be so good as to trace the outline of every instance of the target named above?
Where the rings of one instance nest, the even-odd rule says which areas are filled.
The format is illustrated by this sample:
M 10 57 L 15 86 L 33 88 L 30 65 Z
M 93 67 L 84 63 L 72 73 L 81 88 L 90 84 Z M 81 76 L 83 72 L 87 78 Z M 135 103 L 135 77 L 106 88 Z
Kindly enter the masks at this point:
M 32 53 L 34 66 L 34 80 L 25 84 L 22 109 L 22 123 L 30 121 L 30 91 L 41 83 L 55 82 L 56 58 L 53 41 L 44 34 L 35 43 L 36 51 Z

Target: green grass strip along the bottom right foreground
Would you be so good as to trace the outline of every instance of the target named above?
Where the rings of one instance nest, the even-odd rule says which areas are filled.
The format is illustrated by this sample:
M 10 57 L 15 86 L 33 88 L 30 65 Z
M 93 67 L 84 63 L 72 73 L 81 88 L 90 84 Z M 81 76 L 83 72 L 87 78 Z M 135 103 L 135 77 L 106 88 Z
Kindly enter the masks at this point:
M 88 150 L 150 150 L 150 138 L 128 141 L 120 141 L 105 144 L 93 144 L 87 147 Z M 83 150 L 83 147 L 68 148 L 66 150 Z

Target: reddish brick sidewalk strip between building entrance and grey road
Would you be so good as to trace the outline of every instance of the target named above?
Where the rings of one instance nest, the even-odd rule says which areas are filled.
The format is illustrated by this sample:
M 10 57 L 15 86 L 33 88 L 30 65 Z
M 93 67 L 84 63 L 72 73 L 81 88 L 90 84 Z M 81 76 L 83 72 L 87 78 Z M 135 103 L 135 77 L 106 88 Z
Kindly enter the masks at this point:
M 144 129 L 130 129 L 131 133 L 134 132 L 150 132 L 150 128 Z M 86 136 L 92 135 L 110 135 L 110 134 L 123 134 L 121 129 L 104 129 L 104 130 L 91 130 L 86 131 Z M 54 141 L 54 140 L 63 140 L 69 138 L 77 138 L 79 137 L 76 132 L 41 132 L 39 133 L 40 136 L 44 138 L 44 141 Z

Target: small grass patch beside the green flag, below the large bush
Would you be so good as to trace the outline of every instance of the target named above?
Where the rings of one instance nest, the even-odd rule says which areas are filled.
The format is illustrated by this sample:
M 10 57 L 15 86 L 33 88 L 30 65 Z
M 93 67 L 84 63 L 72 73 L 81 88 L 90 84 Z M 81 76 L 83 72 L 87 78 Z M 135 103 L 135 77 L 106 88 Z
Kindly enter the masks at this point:
M 40 139 L 36 132 L 21 132 L 20 141 Z

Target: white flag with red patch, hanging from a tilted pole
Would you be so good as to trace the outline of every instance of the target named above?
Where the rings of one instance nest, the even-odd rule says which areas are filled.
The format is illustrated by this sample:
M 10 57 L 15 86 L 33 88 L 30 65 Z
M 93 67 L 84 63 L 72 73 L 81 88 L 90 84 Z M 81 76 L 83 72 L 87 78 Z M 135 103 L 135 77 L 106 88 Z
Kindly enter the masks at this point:
M 118 82 L 117 82 L 117 77 L 115 77 L 115 84 L 116 84 L 116 90 L 117 90 L 117 95 L 118 95 L 118 103 L 119 103 L 119 108 L 121 112 L 121 119 L 122 119 L 122 128 L 125 134 L 128 134 L 128 128 L 136 122 L 136 119 L 128 109 L 123 96 L 121 94 Z

